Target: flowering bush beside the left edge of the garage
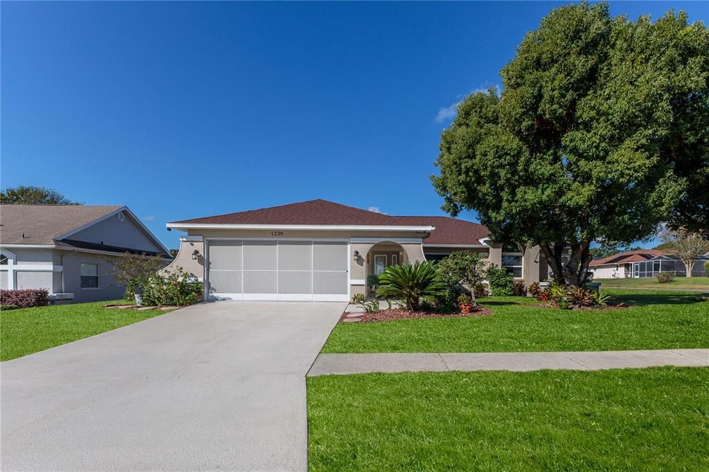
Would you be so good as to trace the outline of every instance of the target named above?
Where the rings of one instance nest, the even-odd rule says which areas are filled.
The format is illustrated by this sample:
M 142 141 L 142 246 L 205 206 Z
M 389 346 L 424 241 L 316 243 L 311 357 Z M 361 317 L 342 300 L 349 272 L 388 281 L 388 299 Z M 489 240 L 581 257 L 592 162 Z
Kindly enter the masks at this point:
M 155 274 L 147 278 L 143 287 L 145 305 L 191 305 L 197 303 L 204 291 L 204 283 L 187 274 L 182 267 L 169 274 Z

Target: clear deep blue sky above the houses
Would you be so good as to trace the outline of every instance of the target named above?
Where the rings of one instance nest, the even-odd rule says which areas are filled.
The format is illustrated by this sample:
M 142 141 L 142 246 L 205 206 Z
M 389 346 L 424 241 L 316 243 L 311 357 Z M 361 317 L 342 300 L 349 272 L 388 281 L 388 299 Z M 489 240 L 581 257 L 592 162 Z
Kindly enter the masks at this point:
M 441 215 L 450 106 L 561 4 L 2 2 L 0 184 L 128 205 L 169 247 L 168 221 L 313 198 Z M 673 6 L 709 16 L 611 10 Z

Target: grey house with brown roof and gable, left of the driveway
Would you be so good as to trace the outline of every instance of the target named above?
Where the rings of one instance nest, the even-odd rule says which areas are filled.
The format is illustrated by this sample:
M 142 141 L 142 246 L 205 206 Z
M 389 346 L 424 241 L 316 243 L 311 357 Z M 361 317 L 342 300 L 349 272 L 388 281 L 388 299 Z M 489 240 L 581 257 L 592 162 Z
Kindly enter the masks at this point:
M 123 297 L 111 261 L 132 254 L 172 260 L 125 206 L 0 206 L 1 288 L 47 288 L 56 300 Z

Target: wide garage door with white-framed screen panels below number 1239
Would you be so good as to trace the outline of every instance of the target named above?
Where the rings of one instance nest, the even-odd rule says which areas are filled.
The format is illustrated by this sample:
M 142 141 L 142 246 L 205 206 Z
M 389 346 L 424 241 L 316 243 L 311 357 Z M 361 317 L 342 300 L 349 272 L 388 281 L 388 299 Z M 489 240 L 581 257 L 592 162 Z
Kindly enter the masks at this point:
M 349 300 L 346 241 L 208 240 L 210 296 Z

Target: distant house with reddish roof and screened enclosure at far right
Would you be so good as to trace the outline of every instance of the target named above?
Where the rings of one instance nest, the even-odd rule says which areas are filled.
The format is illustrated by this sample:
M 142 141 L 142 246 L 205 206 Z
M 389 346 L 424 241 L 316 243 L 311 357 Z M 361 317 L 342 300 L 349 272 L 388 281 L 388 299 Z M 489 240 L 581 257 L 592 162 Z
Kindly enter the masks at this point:
M 704 264 L 708 260 L 709 254 L 701 257 L 694 264 L 692 275 L 705 275 Z M 657 249 L 638 249 L 596 259 L 591 261 L 589 269 L 593 271 L 594 279 L 654 277 L 660 272 L 671 272 L 678 277 L 687 275 L 683 262 Z

